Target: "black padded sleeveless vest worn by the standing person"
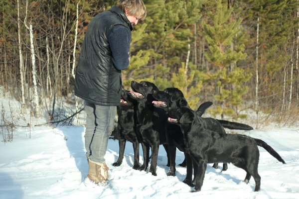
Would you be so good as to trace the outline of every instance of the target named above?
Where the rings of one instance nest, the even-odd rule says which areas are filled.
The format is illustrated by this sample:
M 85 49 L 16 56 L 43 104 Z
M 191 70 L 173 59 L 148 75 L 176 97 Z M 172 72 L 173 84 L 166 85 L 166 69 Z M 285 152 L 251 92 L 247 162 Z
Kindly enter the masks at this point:
M 97 105 L 119 105 L 122 93 L 122 72 L 111 59 L 108 36 L 115 25 L 130 32 L 132 24 L 117 6 L 95 16 L 84 37 L 76 70 L 75 95 Z

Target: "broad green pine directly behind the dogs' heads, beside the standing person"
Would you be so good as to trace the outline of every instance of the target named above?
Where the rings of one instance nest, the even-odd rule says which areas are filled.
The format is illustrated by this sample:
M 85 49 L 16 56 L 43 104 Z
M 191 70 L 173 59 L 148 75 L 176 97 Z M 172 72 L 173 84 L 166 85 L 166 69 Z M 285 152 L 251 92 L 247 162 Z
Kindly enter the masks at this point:
M 188 44 L 193 40 L 189 27 L 200 18 L 201 0 L 145 0 L 147 17 L 145 37 L 132 44 L 132 67 L 126 73 L 129 81 L 150 80 L 159 89 L 171 86 L 171 74 L 186 61 Z M 142 28 L 137 25 L 136 30 Z M 193 27 L 193 26 L 192 26 Z M 140 51 L 142 50 L 142 52 Z M 135 56 L 135 57 L 134 57 Z M 133 64 L 136 59 L 140 64 Z M 143 59 L 143 60 L 140 60 Z M 142 65 L 144 64 L 144 65 Z M 130 64 L 131 65 L 131 64 Z M 141 67 L 139 67 L 141 66 Z

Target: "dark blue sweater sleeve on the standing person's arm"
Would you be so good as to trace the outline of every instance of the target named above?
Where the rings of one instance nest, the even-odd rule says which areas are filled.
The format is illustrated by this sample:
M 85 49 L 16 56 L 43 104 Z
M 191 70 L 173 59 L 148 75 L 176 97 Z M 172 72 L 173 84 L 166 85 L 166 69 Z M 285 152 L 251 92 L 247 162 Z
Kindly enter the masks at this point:
M 109 33 L 108 41 L 112 52 L 112 62 L 116 69 L 125 70 L 129 66 L 131 33 L 123 25 L 116 25 Z

